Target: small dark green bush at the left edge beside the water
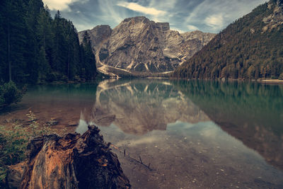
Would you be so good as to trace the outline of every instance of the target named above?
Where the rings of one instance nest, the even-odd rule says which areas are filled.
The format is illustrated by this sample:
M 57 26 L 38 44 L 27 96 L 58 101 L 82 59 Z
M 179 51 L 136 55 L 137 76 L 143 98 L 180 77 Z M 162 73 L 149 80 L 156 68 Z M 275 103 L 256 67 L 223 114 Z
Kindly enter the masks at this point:
M 0 108 L 18 103 L 23 98 L 23 91 L 18 90 L 13 81 L 10 81 L 3 86 L 0 86 Z

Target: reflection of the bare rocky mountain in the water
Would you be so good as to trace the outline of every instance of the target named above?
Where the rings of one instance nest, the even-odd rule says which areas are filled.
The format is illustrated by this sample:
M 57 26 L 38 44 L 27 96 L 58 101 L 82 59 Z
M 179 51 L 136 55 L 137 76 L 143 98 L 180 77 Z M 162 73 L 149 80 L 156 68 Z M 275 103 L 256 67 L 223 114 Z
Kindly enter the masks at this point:
M 99 126 L 112 123 L 128 134 L 146 134 L 166 130 L 168 123 L 209 120 L 183 93 L 166 81 L 108 80 L 98 85 L 91 113 L 82 115 L 86 122 Z

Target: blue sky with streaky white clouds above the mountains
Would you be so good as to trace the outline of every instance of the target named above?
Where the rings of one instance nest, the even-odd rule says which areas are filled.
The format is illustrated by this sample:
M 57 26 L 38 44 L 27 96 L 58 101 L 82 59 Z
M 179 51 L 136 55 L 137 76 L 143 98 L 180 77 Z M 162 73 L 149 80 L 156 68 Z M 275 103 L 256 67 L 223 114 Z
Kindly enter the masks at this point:
M 201 30 L 219 33 L 266 0 L 43 0 L 52 16 L 59 10 L 76 29 L 96 25 L 115 28 L 125 18 L 146 16 L 151 21 L 168 22 L 171 30 L 184 33 Z

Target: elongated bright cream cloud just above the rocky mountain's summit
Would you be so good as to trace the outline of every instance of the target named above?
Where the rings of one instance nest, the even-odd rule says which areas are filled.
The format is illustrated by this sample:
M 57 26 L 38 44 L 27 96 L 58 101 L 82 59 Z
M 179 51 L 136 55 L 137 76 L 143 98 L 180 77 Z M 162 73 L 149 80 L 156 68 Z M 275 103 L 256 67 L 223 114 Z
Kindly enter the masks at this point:
M 157 10 L 156 8 L 141 6 L 137 3 L 118 2 L 117 6 L 122 6 L 132 11 L 137 11 L 140 13 L 145 13 L 153 16 L 160 16 L 166 14 L 166 11 L 160 11 Z

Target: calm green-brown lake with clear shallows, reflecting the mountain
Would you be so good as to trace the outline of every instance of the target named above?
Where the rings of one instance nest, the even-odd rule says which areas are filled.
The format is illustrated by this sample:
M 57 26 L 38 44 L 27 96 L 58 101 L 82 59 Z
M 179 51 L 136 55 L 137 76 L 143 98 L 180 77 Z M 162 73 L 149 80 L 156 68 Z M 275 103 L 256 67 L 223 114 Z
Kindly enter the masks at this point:
M 119 79 L 34 86 L 0 122 L 28 124 L 29 110 L 59 134 L 98 125 L 133 188 L 283 188 L 283 85 Z

